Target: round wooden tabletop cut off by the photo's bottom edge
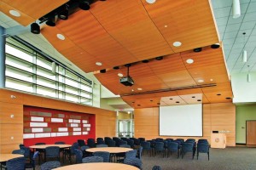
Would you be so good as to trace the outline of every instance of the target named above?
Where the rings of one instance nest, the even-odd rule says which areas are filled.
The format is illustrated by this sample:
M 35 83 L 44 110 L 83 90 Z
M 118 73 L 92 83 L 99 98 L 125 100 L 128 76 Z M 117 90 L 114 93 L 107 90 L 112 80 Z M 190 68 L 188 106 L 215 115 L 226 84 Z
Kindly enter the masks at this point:
M 137 167 L 126 165 L 123 163 L 109 163 L 109 162 L 97 162 L 97 163 L 79 163 L 74 165 L 68 165 L 64 167 L 55 168 L 55 170 L 139 170 Z

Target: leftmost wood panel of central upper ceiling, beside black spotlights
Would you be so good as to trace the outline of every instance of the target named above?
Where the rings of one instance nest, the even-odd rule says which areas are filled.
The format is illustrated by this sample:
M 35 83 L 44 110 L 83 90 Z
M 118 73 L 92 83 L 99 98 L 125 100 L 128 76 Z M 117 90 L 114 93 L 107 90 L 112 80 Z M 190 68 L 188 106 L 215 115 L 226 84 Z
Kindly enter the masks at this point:
M 95 56 L 105 69 L 132 63 L 137 59 L 116 42 L 89 11 L 78 11 L 57 26 L 77 46 Z M 110 66 L 110 67 L 108 67 Z M 97 71 L 98 67 L 94 67 Z

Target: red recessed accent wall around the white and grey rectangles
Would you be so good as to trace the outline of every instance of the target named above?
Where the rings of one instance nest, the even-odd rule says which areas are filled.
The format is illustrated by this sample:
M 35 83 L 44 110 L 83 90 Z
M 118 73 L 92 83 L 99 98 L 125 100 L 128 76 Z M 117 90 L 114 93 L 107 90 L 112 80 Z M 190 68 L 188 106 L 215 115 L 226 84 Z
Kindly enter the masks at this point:
M 32 112 L 47 112 L 51 113 L 51 117 L 44 116 L 44 119 L 50 119 L 50 118 L 57 118 L 58 114 L 64 114 L 63 117 L 64 122 L 48 122 L 48 127 L 50 127 L 51 132 L 47 133 L 53 133 L 54 129 L 57 127 L 67 127 L 67 121 L 68 119 L 72 118 L 73 116 L 80 116 L 80 117 L 86 117 L 88 120 L 88 123 L 90 123 L 90 131 L 86 135 L 69 135 L 69 136 L 59 136 L 59 137 L 47 137 L 47 138 L 33 138 L 33 139 L 24 139 L 23 144 L 26 146 L 34 145 L 39 142 L 44 142 L 46 144 L 54 144 L 56 141 L 64 141 L 66 144 L 73 144 L 74 142 L 77 142 L 78 139 L 96 139 L 96 116 L 92 114 L 87 113 L 79 113 L 79 112 L 72 112 L 72 111 L 60 111 L 60 110 L 53 110 L 53 109 L 46 109 L 46 108 L 39 108 L 39 107 L 32 107 L 32 106 L 24 106 L 24 132 L 28 133 L 27 130 L 29 130 L 30 127 L 29 124 L 31 122 L 31 116 Z M 43 116 L 42 116 L 43 117 Z M 81 123 L 82 124 L 82 123 Z M 72 133 L 72 127 L 67 127 L 68 132 Z M 83 127 L 82 127 L 83 128 Z M 25 132 L 26 129 L 26 132 Z

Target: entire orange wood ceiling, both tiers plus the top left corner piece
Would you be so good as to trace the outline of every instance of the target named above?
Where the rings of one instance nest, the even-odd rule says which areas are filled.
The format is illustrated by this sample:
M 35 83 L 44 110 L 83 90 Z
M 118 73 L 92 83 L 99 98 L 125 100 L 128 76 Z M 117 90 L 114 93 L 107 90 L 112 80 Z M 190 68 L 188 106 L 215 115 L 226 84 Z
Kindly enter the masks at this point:
M 3 3 L 12 4 L 8 0 Z M 23 14 L 23 8 L 31 8 L 33 3 L 38 1 L 13 7 Z M 50 8 L 55 5 L 59 4 Z M 49 8 L 38 6 L 25 13 L 28 18 L 17 21 L 26 25 L 32 22 L 29 17 L 49 12 Z M 85 72 L 94 71 L 102 85 L 134 108 L 232 102 L 223 49 L 210 48 L 219 39 L 208 0 L 98 1 L 90 10 L 79 10 L 68 20 L 58 20 L 55 27 L 44 26 L 41 32 L 67 59 Z M 175 47 L 174 42 L 182 45 Z M 193 51 L 201 47 L 200 53 Z M 156 60 L 159 56 L 163 59 Z M 141 62 L 144 59 L 149 62 Z M 187 59 L 194 63 L 188 64 Z M 131 87 L 119 83 L 118 74 L 126 76 L 125 64 L 131 64 L 130 76 L 135 82 Z M 119 70 L 113 70 L 114 66 Z M 99 73 L 102 69 L 107 72 Z

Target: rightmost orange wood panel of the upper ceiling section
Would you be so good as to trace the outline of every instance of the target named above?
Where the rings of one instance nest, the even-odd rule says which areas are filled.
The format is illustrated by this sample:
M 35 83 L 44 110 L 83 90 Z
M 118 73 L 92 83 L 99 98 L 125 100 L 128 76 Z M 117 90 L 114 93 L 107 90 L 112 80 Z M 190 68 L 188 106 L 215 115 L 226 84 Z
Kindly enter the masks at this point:
M 208 0 L 142 2 L 176 53 L 219 42 Z M 174 48 L 172 43 L 177 41 L 182 42 L 182 46 Z

